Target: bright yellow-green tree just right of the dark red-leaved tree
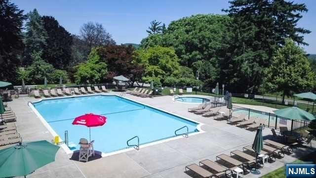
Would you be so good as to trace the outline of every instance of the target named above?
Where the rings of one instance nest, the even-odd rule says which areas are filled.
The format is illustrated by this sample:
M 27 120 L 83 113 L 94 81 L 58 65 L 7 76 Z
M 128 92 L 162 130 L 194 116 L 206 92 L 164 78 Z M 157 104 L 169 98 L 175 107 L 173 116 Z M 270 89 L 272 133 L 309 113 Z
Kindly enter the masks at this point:
M 155 46 L 138 49 L 134 55 L 135 62 L 145 67 L 143 80 L 151 81 L 151 77 L 158 78 L 160 82 L 179 69 L 179 58 L 173 48 Z

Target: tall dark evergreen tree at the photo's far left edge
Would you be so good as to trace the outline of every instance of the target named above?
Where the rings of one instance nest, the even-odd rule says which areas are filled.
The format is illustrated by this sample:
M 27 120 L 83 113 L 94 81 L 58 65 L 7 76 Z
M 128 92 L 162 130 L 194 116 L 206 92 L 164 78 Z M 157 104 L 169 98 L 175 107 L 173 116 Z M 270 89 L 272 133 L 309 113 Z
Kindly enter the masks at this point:
M 0 81 L 15 82 L 23 52 L 23 10 L 9 0 L 0 1 Z

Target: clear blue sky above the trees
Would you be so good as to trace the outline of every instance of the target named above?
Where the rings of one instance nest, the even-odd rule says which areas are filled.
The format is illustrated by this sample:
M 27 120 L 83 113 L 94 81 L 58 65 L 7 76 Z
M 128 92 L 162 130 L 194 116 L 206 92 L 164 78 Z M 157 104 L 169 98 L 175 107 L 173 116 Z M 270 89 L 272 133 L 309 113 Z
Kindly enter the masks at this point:
M 316 0 L 294 0 L 309 9 L 298 27 L 312 31 L 305 35 L 308 53 L 316 54 Z M 228 0 L 12 0 L 25 13 L 37 8 L 40 15 L 54 16 L 70 33 L 79 34 L 82 24 L 103 24 L 117 44 L 135 43 L 147 37 L 152 20 L 168 25 L 194 14 L 224 14 Z

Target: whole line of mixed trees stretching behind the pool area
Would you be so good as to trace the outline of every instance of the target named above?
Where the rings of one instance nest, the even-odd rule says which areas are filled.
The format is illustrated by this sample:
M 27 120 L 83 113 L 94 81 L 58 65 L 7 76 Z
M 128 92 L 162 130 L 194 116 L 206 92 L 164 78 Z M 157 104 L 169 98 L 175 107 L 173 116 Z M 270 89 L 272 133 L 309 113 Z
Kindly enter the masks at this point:
M 227 15 L 192 15 L 167 27 L 154 20 L 138 49 L 116 45 L 99 23 L 85 23 L 72 35 L 36 9 L 23 15 L 9 0 L 0 8 L 0 80 L 39 84 L 44 77 L 56 82 L 62 76 L 103 83 L 124 75 L 130 84 L 213 87 L 219 82 L 233 92 L 283 95 L 315 87 L 314 70 L 298 46 L 308 45 L 304 34 L 310 33 L 297 26 L 308 11 L 304 3 L 231 0 L 223 9 Z

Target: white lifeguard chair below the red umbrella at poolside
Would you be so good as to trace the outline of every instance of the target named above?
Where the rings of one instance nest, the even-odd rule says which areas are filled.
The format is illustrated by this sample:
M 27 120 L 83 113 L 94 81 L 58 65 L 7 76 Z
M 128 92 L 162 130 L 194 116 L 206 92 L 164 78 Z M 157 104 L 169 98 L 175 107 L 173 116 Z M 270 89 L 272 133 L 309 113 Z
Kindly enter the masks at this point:
M 80 141 L 78 143 L 80 145 L 79 161 L 87 162 L 89 157 L 91 157 L 91 155 L 94 156 L 93 143 L 94 143 L 94 140 L 92 140 L 89 143 L 87 139 L 80 138 Z

